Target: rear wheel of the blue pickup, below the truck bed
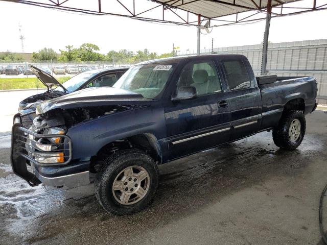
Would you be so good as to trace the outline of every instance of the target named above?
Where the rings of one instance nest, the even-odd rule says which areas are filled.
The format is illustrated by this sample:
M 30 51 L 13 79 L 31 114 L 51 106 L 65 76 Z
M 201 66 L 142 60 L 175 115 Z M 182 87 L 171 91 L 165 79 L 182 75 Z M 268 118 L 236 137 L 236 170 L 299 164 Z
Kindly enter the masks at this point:
M 272 138 L 276 146 L 294 150 L 301 144 L 306 133 L 306 118 L 302 111 L 288 111 L 273 129 Z

